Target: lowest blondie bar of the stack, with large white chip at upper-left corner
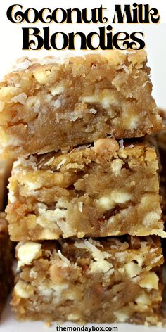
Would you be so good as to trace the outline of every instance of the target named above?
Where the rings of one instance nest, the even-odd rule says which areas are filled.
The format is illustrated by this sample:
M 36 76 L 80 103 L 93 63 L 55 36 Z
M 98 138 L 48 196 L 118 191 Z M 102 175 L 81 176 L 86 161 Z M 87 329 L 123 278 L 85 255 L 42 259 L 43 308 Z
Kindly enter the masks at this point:
M 18 319 L 160 322 L 158 237 L 29 241 L 18 243 L 16 255 L 12 306 Z

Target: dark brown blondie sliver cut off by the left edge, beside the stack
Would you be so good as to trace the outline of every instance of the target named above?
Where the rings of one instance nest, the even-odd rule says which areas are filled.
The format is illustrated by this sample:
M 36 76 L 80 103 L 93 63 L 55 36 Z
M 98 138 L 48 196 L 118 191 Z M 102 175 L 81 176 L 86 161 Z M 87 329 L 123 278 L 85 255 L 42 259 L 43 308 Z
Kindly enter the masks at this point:
M 5 213 L 0 213 L 0 315 L 13 286 L 12 245 L 8 237 Z

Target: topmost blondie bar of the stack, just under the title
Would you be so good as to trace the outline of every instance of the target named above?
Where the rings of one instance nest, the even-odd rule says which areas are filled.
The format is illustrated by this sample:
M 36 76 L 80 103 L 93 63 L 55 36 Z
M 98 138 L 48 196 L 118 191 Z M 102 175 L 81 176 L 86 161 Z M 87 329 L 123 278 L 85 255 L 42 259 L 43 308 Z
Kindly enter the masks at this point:
M 16 157 L 58 151 L 107 134 L 162 129 L 145 51 L 23 59 L 0 83 L 0 144 Z

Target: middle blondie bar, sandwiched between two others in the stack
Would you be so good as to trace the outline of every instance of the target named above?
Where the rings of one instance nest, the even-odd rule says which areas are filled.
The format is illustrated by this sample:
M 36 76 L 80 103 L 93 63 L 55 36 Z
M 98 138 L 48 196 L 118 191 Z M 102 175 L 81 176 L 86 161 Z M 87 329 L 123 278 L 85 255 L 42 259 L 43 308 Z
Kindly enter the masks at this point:
M 68 153 L 18 158 L 6 208 L 11 239 L 165 237 L 155 149 L 120 146 L 98 139 Z

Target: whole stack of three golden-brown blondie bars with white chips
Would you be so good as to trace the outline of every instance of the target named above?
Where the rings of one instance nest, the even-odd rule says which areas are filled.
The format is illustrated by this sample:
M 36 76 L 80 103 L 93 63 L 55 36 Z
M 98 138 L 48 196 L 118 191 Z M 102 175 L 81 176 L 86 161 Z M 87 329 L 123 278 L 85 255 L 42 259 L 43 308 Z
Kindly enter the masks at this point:
M 24 58 L 1 82 L 18 319 L 160 324 L 166 234 L 143 137 L 162 121 L 149 73 L 144 51 L 104 51 Z

